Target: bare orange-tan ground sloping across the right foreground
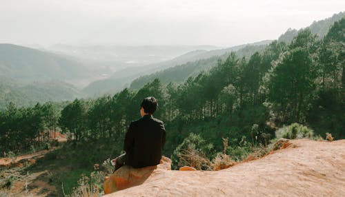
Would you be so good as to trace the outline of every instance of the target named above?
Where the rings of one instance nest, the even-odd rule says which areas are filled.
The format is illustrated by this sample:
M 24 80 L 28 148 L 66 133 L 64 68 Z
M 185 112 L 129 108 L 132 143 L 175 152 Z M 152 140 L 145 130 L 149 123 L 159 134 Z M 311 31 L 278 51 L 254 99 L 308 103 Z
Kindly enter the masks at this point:
M 345 196 L 345 140 L 294 140 L 264 158 L 217 172 L 155 170 L 106 196 Z

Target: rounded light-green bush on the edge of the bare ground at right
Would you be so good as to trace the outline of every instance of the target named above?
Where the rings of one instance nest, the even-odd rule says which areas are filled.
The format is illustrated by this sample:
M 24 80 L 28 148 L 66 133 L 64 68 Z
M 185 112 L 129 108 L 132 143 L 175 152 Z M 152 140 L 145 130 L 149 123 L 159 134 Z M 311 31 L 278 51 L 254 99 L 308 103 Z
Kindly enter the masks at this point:
M 313 138 L 314 133 L 312 129 L 301 125 L 299 123 L 293 123 L 287 127 L 282 127 L 275 132 L 277 138 L 287 139 L 300 139 L 300 138 Z

